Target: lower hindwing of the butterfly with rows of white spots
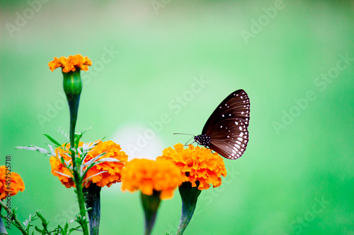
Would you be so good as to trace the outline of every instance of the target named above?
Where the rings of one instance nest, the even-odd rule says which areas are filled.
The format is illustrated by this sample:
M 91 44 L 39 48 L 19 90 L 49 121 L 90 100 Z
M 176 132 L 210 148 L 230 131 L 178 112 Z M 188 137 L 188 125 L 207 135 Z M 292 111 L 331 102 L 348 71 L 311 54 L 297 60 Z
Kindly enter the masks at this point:
M 222 157 L 237 159 L 244 154 L 249 142 L 249 131 L 242 119 L 226 119 L 210 131 L 210 148 Z

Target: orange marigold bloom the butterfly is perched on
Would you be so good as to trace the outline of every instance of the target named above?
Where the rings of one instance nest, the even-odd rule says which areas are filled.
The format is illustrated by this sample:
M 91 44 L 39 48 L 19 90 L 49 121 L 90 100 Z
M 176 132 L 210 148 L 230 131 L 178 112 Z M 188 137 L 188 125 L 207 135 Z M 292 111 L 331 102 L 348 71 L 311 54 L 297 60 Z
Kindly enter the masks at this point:
M 210 149 L 205 147 L 194 147 L 189 145 L 187 149 L 181 143 L 168 147 L 163 151 L 162 156 L 157 159 L 169 159 L 183 173 L 183 182 L 190 181 L 192 186 L 197 186 L 195 181 L 199 181 L 199 190 L 207 189 L 212 183 L 213 188 L 221 185 L 222 179 L 220 176 L 226 176 L 224 160 L 217 155 L 217 152 L 212 153 Z

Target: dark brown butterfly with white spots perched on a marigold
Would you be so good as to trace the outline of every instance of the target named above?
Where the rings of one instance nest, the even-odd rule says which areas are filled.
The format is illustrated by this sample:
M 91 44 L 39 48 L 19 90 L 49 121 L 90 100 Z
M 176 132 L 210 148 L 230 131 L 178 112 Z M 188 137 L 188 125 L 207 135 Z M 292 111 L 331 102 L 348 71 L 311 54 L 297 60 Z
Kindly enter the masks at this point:
M 227 159 L 241 157 L 249 141 L 249 105 L 244 90 L 232 92 L 212 112 L 195 142 Z

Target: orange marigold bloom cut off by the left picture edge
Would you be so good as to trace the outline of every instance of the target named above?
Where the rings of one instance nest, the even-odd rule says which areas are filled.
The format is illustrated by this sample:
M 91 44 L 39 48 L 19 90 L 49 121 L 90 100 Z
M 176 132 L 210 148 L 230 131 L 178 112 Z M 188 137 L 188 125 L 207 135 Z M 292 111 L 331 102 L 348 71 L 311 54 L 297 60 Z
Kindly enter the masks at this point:
M 11 178 L 11 182 L 8 181 Z M 6 181 L 7 180 L 7 181 Z M 0 200 L 6 198 L 7 195 L 16 195 L 18 191 L 23 192 L 25 190 L 25 183 L 21 179 L 21 176 L 15 172 L 6 171 L 5 166 L 0 167 Z

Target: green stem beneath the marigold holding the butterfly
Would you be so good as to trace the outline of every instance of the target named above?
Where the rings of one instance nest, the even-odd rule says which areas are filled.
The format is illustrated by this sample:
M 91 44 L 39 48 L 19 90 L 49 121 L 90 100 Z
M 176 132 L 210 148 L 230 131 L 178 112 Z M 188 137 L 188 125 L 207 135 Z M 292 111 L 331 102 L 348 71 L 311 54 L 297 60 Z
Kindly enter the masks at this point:
M 199 181 L 197 181 L 196 184 L 196 187 L 192 187 L 192 183 L 183 182 L 182 185 L 178 187 L 182 200 L 182 214 L 176 235 L 183 234 L 190 219 L 193 217 L 195 207 L 197 206 L 198 196 L 202 192 L 198 189 Z

